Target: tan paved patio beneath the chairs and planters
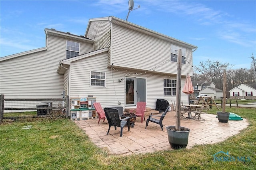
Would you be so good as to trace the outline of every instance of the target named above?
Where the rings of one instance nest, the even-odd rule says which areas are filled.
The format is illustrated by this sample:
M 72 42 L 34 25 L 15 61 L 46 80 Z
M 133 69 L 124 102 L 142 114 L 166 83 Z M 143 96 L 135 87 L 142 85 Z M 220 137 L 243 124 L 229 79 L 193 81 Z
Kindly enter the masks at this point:
M 158 111 L 152 110 L 152 113 Z M 194 114 L 192 113 L 192 116 Z M 147 119 L 148 117 L 145 116 Z M 240 130 L 248 127 L 249 123 L 246 119 L 242 121 L 228 121 L 228 123 L 220 123 L 216 115 L 202 114 L 202 118 L 206 121 L 181 120 L 181 126 L 190 128 L 188 138 L 188 146 L 191 148 L 195 144 L 214 144 L 221 142 L 226 138 L 238 134 Z M 164 130 L 160 125 L 149 122 L 145 129 L 146 121 L 140 123 L 140 117 L 137 118 L 135 126 L 124 127 L 122 137 L 120 137 L 120 128 L 110 128 L 108 131 L 108 121 L 103 120 L 98 123 L 98 119 L 89 119 L 75 121 L 82 128 L 88 137 L 100 148 L 108 148 L 110 154 L 129 155 L 134 153 L 147 153 L 157 150 L 172 150 L 168 142 L 166 126 L 175 126 L 175 111 L 166 114 L 163 120 Z

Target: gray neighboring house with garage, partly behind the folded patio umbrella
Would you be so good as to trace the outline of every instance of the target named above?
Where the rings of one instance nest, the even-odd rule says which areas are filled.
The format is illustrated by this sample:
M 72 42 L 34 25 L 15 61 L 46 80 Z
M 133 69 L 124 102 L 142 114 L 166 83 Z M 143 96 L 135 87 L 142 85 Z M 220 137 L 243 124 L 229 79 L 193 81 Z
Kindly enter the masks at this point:
M 196 98 L 200 94 L 205 94 L 205 93 L 201 92 L 202 89 L 204 89 L 206 87 L 215 88 L 215 86 L 216 86 L 215 83 L 213 83 L 213 82 L 208 83 L 208 81 L 206 81 L 206 80 L 193 81 L 192 85 L 194 87 L 194 93 L 192 94 L 193 98 Z

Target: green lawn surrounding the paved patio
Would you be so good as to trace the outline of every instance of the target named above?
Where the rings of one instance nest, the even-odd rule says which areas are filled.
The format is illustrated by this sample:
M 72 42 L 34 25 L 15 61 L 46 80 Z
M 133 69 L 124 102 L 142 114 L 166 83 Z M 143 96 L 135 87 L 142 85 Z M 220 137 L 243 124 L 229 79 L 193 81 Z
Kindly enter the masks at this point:
M 216 114 L 213 107 L 208 113 Z M 226 108 L 248 119 L 248 128 L 218 144 L 191 149 L 116 156 L 96 147 L 76 124 L 68 119 L 38 119 L 4 123 L 0 127 L 0 169 L 68 170 L 253 170 L 256 167 L 256 109 Z M 30 129 L 22 129 L 30 125 Z M 219 151 L 250 161 L 214 162 Z M 224 155 L 223 155 L 224 156 Z M 248 160 L 248 159 L 246 159 Z

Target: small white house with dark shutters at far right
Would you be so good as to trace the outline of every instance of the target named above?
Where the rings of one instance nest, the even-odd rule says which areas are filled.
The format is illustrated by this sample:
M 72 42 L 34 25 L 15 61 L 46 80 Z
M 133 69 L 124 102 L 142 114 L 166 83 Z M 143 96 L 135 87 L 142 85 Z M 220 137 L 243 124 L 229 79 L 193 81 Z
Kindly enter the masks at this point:
M 256 83 L 240 84 L 229 92 L 231 99 L 256 99 Z

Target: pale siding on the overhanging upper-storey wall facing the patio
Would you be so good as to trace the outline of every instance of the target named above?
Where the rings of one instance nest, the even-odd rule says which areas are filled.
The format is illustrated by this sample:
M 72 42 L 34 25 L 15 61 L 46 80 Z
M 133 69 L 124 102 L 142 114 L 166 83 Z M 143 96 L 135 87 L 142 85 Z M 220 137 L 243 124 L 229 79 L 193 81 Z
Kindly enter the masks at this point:
M 170 59 L 170 46 L 170 42 L 113 25 L 112 55 L 109 64 L 148 70 Z M 186 49 L 186 58 L 192 63 L 192 49 Z M 169 60 L 161 67 L 156 67 L 155 71 L 176 74 L 177 63 Z M 182 75 L 187 73 L 192 74 L 192 66 L 188 63 L 182 64 Z

